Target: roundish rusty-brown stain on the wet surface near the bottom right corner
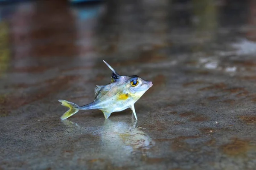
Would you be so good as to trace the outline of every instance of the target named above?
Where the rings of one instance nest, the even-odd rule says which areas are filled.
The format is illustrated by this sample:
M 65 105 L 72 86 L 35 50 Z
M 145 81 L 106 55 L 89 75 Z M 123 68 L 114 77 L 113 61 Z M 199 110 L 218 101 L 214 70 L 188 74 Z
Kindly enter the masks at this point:
M 229 156 L 244 156 L 250 149 L 250 142 L 241 139 L 233 139 L 233 142 L 221 146 L 221 150 Z

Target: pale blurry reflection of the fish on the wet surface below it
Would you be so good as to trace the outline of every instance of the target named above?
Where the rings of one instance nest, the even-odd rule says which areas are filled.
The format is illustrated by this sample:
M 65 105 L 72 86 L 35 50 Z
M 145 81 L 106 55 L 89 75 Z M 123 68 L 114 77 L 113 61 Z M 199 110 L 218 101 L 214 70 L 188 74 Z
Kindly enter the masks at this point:
M 93 153 L 88 151 L 86 155 L 94 157 L 99 152 L 100 157 L 95 159 L 111 159 L 113 164 L 131 161 L 134 159 L 134 153 L 147 153 L 147 150 L 155 144 L 147 133 L 136 127 L 137 120 L 134 122 L 133 119 L 131 122 L 105 119 L 101 127 L 94 122 L 91 127 L 86 128 L 67 119 L 61 122 L 65 125 L 65 135 L 70 136 L 72 141 L 74 135 L 80 136 L 81 133 L 91 136 L 92 139 L 100 139 L 100 142 L 95 143 L 93 147 L 97 149 L 93 149 Z

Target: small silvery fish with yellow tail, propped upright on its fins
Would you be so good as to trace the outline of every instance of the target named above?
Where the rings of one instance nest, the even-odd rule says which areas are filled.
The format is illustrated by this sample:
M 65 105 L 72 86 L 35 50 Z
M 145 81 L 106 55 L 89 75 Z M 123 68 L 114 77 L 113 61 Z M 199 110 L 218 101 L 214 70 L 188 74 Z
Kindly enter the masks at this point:
M 105 61 L 103 60 L 103 62 Z M 127 108 L 131 108 L 135 119 L 138 120 L 134 103 L 153 86 L 153 83 L 137 75 L 119 75 L 107 62 L 105 62 L 105 64 L 112 71 L 111 82 L 107 85 L 96 85 L 94 89 L 94 100 L 87 105 L 79 106 L 66 100 L 58 100 L 61 102 L 61 105 L 69 108 L 69 110 L 61 116 L 61 120 L 73 116 L 79 110 L 92 109 L 102 111 L 105 119 L 108 119 L 111 113 L 124 111 Z

